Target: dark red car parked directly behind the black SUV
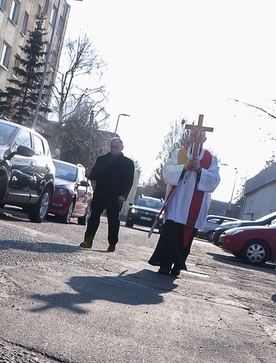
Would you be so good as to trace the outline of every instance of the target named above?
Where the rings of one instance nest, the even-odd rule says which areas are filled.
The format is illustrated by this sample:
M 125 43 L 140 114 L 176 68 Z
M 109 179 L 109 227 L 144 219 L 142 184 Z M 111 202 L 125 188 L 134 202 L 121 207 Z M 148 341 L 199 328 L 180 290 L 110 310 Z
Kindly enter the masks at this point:
M 85 177 L 85 167 L 55 159 L 53 162 L 56 167 L 55 192 L 49 213 L 58 216 L 62 223 L 78 218 L 78 224 L 87 224 L 93 189 Z

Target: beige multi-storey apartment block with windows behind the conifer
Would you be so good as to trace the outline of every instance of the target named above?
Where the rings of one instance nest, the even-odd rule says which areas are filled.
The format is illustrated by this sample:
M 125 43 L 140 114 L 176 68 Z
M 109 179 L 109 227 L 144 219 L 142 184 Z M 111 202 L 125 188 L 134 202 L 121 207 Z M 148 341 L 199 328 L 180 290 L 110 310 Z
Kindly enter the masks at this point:
M 13 79 L 13 67 L 17 66 L 17 57 L 24 58 L 20 46 L 24 47 L 29 38 L 29 31 L 36 27 L 36 17 L 44 13 L 43 22 L 47 40 L 45 51 L 50 50 L 48 63 L 48 82 L 55 83 L 59 57 L 64 43 L 64 35 L 68 22 L 70 6 L 66 0 L 0 0 L 0 91 L 6 91 L 10 86 L 8 80 Z M 55 32 L 52 39 L 52 47 L 49 49 L 53 26 Z M 51 92 L 43 98 L 43 103 L 49 107 Z M 47 117 L 47 114 L 43 114 Z

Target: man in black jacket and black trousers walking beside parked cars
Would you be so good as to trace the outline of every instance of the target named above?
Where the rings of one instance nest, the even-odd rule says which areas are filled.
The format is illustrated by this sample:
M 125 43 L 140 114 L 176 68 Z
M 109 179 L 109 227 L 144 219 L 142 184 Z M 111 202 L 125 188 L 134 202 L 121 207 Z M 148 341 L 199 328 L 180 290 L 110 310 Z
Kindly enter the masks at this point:
M 134 164 L 122 153 L 124 145 L 119 138 L 110 142 L 110 152 L 96 159 L 94 168 L 86 168 L 90 180 L 96 180 L 84 242 L 80 247 L 91 249 L 101 214 L 106 209 L 108 217 L 108 251 L 114 252 L 119 235 L 119 212 L 122 210 L 133 184 Z

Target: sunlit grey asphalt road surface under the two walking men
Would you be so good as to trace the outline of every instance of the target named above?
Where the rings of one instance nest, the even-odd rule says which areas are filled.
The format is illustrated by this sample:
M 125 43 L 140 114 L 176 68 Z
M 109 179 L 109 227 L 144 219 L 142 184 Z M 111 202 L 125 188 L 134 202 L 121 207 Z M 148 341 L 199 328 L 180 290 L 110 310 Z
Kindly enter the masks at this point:
M 245 265 L 195 239 L 187 272 L 157 274 L 159 235 L 122 223 L 107 253 L 102 218 L 30 223 L 0 209 L 0 362 L 275 362 L 275 265 Z

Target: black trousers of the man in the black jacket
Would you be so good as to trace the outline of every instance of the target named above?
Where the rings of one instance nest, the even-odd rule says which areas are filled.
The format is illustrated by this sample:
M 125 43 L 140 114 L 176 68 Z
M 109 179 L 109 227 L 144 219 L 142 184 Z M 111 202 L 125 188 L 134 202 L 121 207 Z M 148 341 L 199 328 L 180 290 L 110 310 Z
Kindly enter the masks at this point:
M 103 208 L 93 207 L 89 221 L 87 223 L 87 229 L 85 232 L 85 241 L 92 242 L 96 231 L 99 228 L 101 221 L 101 214 L 103 213 Z M 106 214 L 108 217 L 108 243 L 117 244 L 119 239 L 119 211 L 114 209 L 106 209 Z

